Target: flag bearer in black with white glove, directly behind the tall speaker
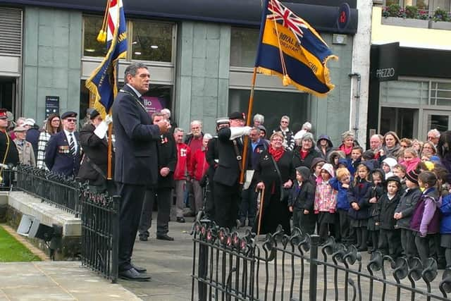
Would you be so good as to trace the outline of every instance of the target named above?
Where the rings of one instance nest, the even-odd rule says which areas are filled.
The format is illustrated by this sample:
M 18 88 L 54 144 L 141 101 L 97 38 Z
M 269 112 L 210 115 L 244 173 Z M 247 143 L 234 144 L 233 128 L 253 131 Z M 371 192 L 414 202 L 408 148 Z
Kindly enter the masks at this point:
M 113 119 L 106 116 L 105 121 L 100 113 L 92 109 L 89 123 L 80 130 L 80 145 L 83 149 L 82 164 L 78 171 L 81 182 L 87 182 L 92 192 L 103 193 L 108 191 L 113 195 L 113 185 L 106 180 L 108 172 L 108 140 L 106 132 Z M 113 164 L 113 162 L 111 162 Z M 111 166 L 114 171 L 114 166 Z

